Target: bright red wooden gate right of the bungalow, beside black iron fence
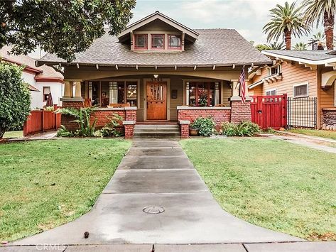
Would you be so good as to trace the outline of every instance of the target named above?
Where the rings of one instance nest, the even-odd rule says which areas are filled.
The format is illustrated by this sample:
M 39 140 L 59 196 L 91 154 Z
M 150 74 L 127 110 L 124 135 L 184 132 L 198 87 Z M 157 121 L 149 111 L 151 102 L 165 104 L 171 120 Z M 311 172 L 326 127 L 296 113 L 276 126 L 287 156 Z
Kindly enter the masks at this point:
M 252 121 L 261 128 L 285 128 L 287 125 L 287 94 L 252 96 Z

